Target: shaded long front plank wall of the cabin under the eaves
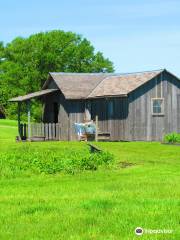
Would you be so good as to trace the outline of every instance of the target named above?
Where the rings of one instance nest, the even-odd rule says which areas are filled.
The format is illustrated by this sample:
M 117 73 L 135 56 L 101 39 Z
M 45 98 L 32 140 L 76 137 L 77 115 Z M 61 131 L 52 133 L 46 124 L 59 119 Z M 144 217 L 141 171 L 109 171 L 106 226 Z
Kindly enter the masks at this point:
M 51 80 L 48 88 L 57 88 Z M 65 100 L 59 92 L 47 95 L 44 98 L 44 122 L 54 122 L 53 103 L 59 103 L 58 121 L 61 126 L 61 140 L 77 140 L 74 131 L 75 122 L 83 122 L 85 118 L 85 104 L 91 103 L 91 119 L 95 121 L 98 115 L 99 129 L 110 132 L 111 140 L 123 140 L 125 136 L 125 118 L 127 117 L 127 98 L 93 99 L 93 100 Z M 109 115 L 108 103 L 113 102 L 113 116 Z

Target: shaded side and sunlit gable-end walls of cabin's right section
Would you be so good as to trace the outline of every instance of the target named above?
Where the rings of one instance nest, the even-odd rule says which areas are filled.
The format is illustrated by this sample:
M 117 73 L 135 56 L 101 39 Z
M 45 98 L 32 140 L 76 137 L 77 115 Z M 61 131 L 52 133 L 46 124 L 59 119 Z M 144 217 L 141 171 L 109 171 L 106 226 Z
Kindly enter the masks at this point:
M 164 115 L 152 115 L 152 98 L 164 98 Z M 113 102 L 113 116 L 108 102 Z M 180 81 L 162 75 L 142 85 L 128 98 L 92 100 L 92 118 L 99 117 L 99 129 L 110 132 L 111 140 L 161 141 L 170 132 L 180 132 Z

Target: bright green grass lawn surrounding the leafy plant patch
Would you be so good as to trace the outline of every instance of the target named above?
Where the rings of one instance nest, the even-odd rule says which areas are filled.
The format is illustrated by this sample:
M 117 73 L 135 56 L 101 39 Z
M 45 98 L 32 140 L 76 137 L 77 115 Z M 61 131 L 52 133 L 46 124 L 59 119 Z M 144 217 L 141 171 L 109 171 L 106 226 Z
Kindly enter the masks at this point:
M 16 122 L 0 120 L 1 156 L 19 152 L 25 158 L 31 151 L 48 158 L 87 149 L 78 142 L 16 143 L 16 135 Z M 1 158 L 0 239 L 180 239 L 180 147 L 98 145 L 114 155 L 114 163 L 75 174 L 21 170 Z M 136 236 L 136 227 L 173 232 Z

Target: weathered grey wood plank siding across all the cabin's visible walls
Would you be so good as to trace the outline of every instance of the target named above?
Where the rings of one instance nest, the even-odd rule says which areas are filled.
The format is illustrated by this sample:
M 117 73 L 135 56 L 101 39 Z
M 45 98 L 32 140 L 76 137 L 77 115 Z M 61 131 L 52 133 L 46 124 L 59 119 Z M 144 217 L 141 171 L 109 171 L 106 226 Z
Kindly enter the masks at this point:
M 55 86 L 51 83 L 49 87 Z M 164 98 L 164 115 L 152 115 L 152 98 Z M 128 97 L 88 101 L 91 118 L 95 120 L 98 115 L 100 131 L 110 132 L 113 141 L 161 141 L 166 133 L 180 132 L 180 81 L 166 71 Z M 66 100 L 59 91 L 45 97 L 44 102 L 44 122 L 54 121 L 53 103 L 58 102 L 61 140 L 76 140 L 74 123 L 83 122 L 86 100 Z

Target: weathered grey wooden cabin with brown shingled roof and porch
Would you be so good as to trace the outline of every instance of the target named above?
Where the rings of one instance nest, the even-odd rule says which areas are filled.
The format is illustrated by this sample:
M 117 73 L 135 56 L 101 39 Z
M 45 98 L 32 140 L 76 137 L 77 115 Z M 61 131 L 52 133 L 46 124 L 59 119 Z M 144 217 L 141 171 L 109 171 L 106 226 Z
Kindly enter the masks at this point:
M 40 130 L 30 124 L 32 98 L 44 105 Z M 166 133 L 180 132 L 180 79 L 165 69 L 128 74 L 49 73 L 41 91 L 11 101 L 18 102 L 19 109 L 23 101 L 29 106 L 29 138 L 47 130 L 47 140 L 77 140 L 74 123 L 96 116 L 99 130 L 110 133 L 112 141 L 161 141 Z M 20 126 L 20 111 L 18 116 Z

